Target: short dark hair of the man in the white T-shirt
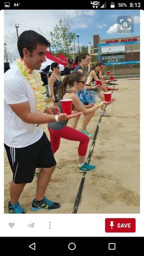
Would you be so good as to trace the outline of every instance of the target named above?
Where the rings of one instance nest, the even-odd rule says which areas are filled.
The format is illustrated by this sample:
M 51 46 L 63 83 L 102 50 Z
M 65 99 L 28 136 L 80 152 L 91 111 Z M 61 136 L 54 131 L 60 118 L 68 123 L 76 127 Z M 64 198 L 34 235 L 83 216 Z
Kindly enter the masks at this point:
M 49 42 L 43 35 L 38 34 L 35 31 L 27 30 L 24 31 L 18 38 L 18 51 L 20 57 L 23 58 L 23 49 L 26 48 L 30 53 L 37 48 L 37 45 L 46 45 L 49 47 Z

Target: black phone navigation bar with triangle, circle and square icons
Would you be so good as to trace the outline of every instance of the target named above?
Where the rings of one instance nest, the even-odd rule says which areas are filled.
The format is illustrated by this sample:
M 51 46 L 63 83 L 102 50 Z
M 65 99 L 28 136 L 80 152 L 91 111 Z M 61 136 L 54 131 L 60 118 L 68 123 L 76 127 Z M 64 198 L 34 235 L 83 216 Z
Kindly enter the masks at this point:
M 26 255 L 135 255 L 143 252 L 144 237 L 3 237 L 0 243 L 1 249 L 9 245 L 15 256 L 22 251 Z

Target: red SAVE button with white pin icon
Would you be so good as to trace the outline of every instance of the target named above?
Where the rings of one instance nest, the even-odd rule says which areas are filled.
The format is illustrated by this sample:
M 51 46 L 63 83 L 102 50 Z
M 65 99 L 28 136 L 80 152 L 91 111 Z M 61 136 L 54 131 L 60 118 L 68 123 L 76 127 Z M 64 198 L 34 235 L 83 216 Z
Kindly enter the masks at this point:
M 135 219 L 107 218 L 105 219 L 105 232 L 135 232 Z

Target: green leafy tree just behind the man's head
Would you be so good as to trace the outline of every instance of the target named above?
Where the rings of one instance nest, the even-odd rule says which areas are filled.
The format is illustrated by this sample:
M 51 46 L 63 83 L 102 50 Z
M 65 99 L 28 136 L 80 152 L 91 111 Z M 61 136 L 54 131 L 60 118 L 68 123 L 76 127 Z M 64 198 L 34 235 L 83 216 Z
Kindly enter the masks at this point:
M 64 20 L 59 20 L 59 25 L 54 27 L 54 31 L 50 32 L 51 35 L 51 47 L 55 54 L 62 53 L 67 57 L 71 57 L 70 51 L 73 50 L 73 40 L 76 38 L 76 34 L 70 31 L 73 26 L 73 21 L 68 15 Z

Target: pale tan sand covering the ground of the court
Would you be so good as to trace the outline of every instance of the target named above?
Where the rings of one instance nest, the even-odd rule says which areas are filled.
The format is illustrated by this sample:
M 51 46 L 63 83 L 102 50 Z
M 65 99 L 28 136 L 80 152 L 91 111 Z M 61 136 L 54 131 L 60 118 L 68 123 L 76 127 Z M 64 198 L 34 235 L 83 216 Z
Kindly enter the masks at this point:
M 119 79 L 119 91 L 113 93 L 116 101 L 106 108 L 109 117 L 103 117 L 90 164 L 96 170 L 86 174 L 77 213 L 140 213 L 140 163 L 139 163 L 139 79 Z M 52 103 L 49 103 L 51 106 Z M 95 133 L 99 111 L 87 126 Z M 71 121 L 68 122 L 70 125 Z M 77 125 L 81 128 L 82 116 Z M 47 125 L 43 129 L 49 137 Z M 56 170 L 46 190 L 46 197 L 61 204 L 57 210 L 40 210 L 37 213 L 72 213 L 82 173 L 77 171 L 79 142 L 61 139 L 55 154 Z M 87 156 L 92 145 L 90 139 Z M 85 158 L 87 159 L 87 157 Z M 9 201 L 9 184 L 12 181 L 5 154 L 5 210 Z M 20 197 L 20 204 L 27 213 L 35 197 L 37 180 L 27 184 Z M 35 214 L 35 213 L 34 213 Z

